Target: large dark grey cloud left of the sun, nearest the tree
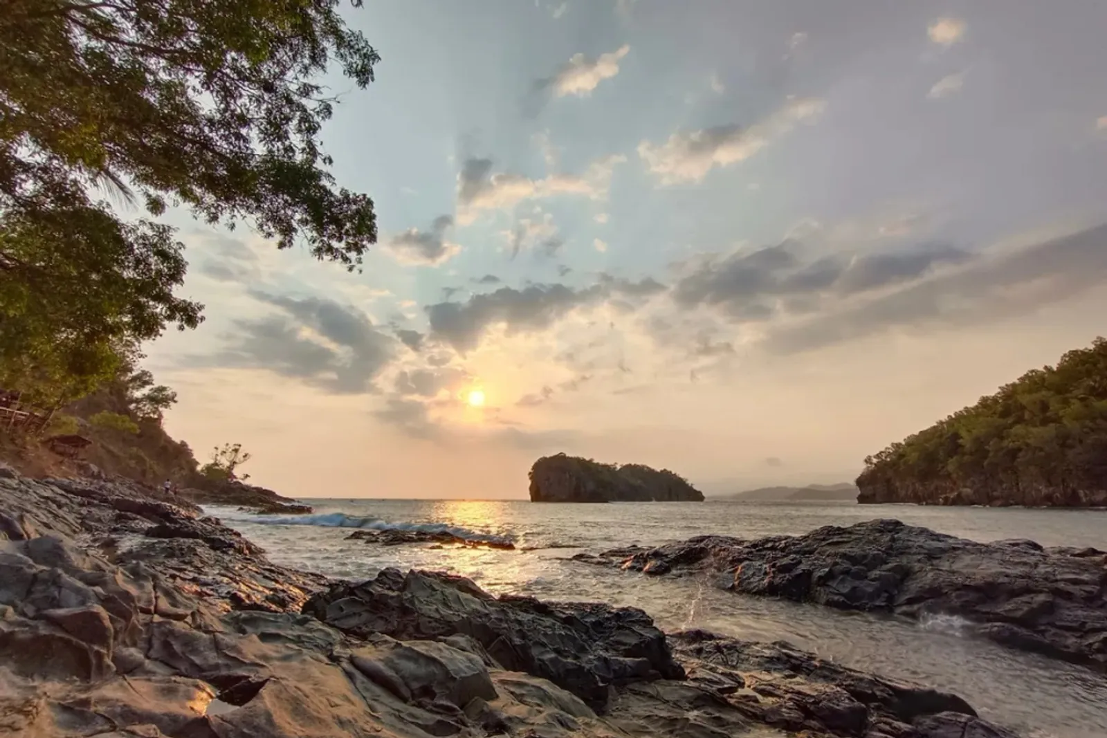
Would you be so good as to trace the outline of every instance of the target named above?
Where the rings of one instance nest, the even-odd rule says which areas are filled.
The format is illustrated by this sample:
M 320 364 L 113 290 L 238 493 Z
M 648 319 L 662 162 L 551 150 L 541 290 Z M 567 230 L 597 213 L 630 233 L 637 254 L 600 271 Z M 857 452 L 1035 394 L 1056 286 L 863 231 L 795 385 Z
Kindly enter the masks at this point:
M 267 370 L 333 394 L 360 394 L 374 391 L 373 381 L 394 356 L 396 340 L 354 308 L 321 298 L 251 297 L 282 314 L 236 321 L 232 345 L 214 357 L 223 365 Z

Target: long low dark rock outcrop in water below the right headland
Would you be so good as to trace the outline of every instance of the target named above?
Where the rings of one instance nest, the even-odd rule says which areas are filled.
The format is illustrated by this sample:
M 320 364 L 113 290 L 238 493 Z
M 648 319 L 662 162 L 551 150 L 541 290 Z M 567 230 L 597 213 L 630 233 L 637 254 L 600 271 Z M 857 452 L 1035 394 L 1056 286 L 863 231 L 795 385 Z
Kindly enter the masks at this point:
M 999 643 L 1107 669 L 1107 553 L 977 543 L 898 520 L 744 541 L 703 536 L 580 561 L 646 574 L 707 573 L 742 594 L 894 612 L 956 615 Z

